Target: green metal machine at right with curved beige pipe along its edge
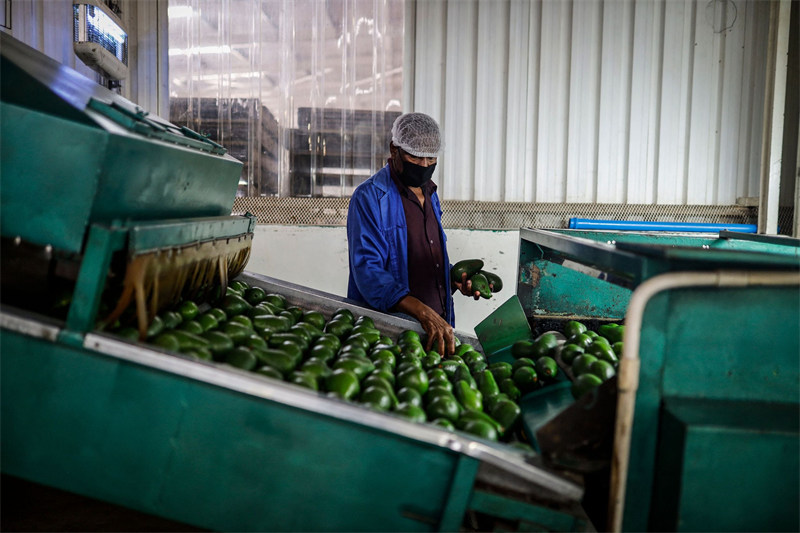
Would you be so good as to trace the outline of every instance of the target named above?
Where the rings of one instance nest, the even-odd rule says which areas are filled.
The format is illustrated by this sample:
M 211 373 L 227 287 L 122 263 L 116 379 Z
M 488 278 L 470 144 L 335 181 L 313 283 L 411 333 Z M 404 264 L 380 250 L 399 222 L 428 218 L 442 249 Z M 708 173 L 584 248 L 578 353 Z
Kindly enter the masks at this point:
M 800 529 L 800 241 L 520 230 L 483 347 L 570 319 L 624 320 L 618 374 L 578 401 L 542 389 L 523 417 L 548 464 L 583 473 L 598 528 Z

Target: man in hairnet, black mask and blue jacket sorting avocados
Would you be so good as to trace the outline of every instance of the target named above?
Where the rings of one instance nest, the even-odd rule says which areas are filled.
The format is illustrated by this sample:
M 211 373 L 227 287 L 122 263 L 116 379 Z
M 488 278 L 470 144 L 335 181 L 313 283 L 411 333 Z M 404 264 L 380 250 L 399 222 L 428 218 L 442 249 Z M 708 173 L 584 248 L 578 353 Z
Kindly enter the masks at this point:
M 441 149 L 436 121 L 400 115 L 391 157 L 359 185 L 347 212 L 350 277 L 347 297 L 382 312 L 410 315 L 427 333 L 426 350 L 455 350 L 453 293 L 476 300 L 466 275 L 450 279 L 442 208 L 431 181 Z

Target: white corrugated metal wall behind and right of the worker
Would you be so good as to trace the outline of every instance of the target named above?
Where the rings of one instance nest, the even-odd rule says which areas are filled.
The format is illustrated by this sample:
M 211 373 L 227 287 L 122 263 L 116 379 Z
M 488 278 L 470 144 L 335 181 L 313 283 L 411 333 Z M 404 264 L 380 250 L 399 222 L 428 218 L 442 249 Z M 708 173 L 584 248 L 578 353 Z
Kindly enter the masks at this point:
M 450 200 L 757 196 L 769 3 L 418 1 L 412 95 Z

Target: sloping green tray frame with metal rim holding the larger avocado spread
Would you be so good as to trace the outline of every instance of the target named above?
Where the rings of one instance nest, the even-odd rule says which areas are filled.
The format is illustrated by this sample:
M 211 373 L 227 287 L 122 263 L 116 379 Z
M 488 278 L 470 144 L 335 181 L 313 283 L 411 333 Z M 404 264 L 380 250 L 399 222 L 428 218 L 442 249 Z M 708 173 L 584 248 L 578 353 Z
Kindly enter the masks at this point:
M 395 335 L 419 325 L 244 273 Z M 581 531 L 582 487 L 536 454 L 217 363 L 0 312 L 3 472 L 214 530 L 456 531 L 470 516 Z M 477 343 L 472 338 L 468 342 Z

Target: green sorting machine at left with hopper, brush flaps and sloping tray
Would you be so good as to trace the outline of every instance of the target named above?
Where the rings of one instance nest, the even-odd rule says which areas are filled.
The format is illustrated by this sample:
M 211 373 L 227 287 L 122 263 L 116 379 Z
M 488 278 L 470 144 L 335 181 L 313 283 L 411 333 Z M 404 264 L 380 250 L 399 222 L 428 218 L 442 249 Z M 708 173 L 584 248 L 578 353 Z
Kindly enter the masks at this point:
M 244 272 L 238 161 L 0 39 L 5 474 L 214 530 L 591 527 L 580 477 L 538 454 L 97 329 L 104 292 L 146 325 L 236 276 L 388 335 L 418 325 Z

